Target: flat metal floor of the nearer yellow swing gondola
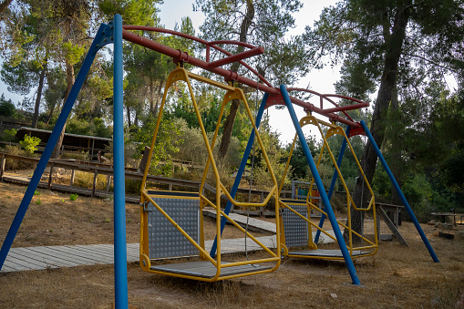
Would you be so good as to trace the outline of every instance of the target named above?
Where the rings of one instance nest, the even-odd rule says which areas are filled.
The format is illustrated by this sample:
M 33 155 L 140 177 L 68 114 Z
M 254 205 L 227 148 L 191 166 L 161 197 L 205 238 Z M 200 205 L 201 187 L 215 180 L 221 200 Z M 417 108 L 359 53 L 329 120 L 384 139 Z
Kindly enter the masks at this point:
M 222 262 L 221 265 L 226 264 L 227 262 Z M 246 264 L 232 267 L 221 268 L 220 277 L 225 277 L 233 274 L 240 273 L 255 273 L 264 270 L 270 270 L 273 266 L 266 264 Z M 216 275 L 217 269 L 209 261 L 199 261 L 199 262 L 188 262 L 188 263 L 176 263 L 168 265 L 157 265 L 151 266 L 150 270 L 165 272 L 165 273 L 177 273 L 183 275 L 190 275 L 193 277 L 201 277 L 211 279 Z

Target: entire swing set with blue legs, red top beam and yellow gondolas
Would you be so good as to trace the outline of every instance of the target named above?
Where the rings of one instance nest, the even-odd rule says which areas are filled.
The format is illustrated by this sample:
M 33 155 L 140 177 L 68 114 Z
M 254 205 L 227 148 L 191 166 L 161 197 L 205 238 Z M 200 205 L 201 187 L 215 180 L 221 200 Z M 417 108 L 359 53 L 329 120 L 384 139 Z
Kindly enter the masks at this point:
M 188 55 L 187 53 L 182 52 L 179 49 L 173 49 L 170 46 L 163 46 L 160 43 L 150 40 L 146 37 L 139 36 L 138 34 L 131 32 L 130 30 L 156 31 L 160 33 L 180 36 L 183 38 L 194 40 L 206 47 L 205 60 L 192 57 L 191 55 Z M 50 138 L 48 139 L 46 148 L 44 149 L 42 157 L 36 166 L 34 175 L 29 182 L 24 198 L 19 205 L 18 211 L 16 212 L 15 219 L 12 222 L 12 225 L 5 237 L 5 242 L 2 244 L 2 248 L 0 250 L 0 269 L 5 263 L 6 255 L 8 254 L 11 245 L 15 239 L 15 235 L 20 227 L 20 224 L 24 219 L 28 205 L 32 200 L 32 196 L 36 191 L 38 182 L 46 168 L 46 163 L 50 159 L 52 150 L 55 148 L 55 145 L 57 144 L 57 139 L 60 135 L 60 132 L 67 121 L 67 117 L 69 116 L 69 113 L 74 105 L 80 88 L 82 88 L 82 85 L 88 75 L 89 68 L 98 50 L 103 46 L 113 44 L 115 304 L 117 308 L 123 308 L 128 306 L 123 130 L 123 39 L 133 44 L 144 46 L 146 48 L 164 54 L 168 57 L 172 57 L 173 62 L 177 65 L 176 69 L 174 69 L 170 73 L 167 80 L 164 96 L 160 107 L 160 116 L 158 118 L 156 129 L 151 142 L 151 149 L 153 149 L 155 145 L 158 131 L 160 129 L 161 114 L 166 103 L 168 89 L 176 82 L 184 82 L 185 84 L 187 84 L 189 88 L 189 92 L 191 94 L 191 104 L 198 118 L 199 125 L 201 128 L 202 139 L 205 144 L 205 149 L 208 152 L 208 160 L 203 171 L 201 188 L 198 192 L 160 191 L 150 189 L 150 185 L 147 183 L 147 175 L 150 171 L 149 160 L 149 163 L 147 164 L 146 170 L 144 172 L 142 180 L 142 189 L 140 191 L 140 266 L 144 271 L 211 282 L 250 274 L 273 272 L 279 267 L 282 255 L 284 255 L 302 258 L 330 258 L 339 260 L 343 259 L 345 261 L 348 272 L 350 273 L 352 282 L 354 284 L 360 284 L 352 258 L 374 254 L 377 250 L 378 244 L 376 240 L 371 241 L 364 237 L 364 235 L 360 235 L 356 232 L 351 232 L 349 220 L 347 225 L 343 222 L 336 221 L 335 214 L 330 203 L 330 197 L 332 196 L 332 193 L 334 191 L 336 179 L 340 178 L 346 191 L 346 203 L 348 205 L 347 209 L 349 210 L 350 205 L 352 205 L 355 209 L 359 211 L 372 211 L 373 216 L 376 215 L 374 194 L 370 189 L 370 185 L 366 181 L 366 177 L 364 177 L 364 180 L 366 181 L 366 185 L 369 188 L 368 190 L 372 198 L 371 201 L 369 201 L 368 206 L 366 208 L 363 208 L 362 205 L 355 205 L 353 199 L 351 198 L 351 195 L 346 190 L 343 175 L 339 170 L 346 145 L 348 145 L 348 148 L 354 154 L 353 148 L 349 143 L 349 138 L 354 135 L 364 134 L 366 134 L 366 137 L 369 140 L 371 146 L 374 147 L 379 160 L 382 162 L 390 180 L 393 183 L 394 188 L 397 190 L 401 200 L 403 201 L 403 204 L 411 220 L 415 223 L 423 242 L 426 244 L 428 252 L 432 256 L 434 262 L 438 262 L 437 255 L 431 248 L 428 239 L 422 231 L 420 225 L 418 224 L 418 221 L 414 213 L 412 212 L 409 204 L 407 203 L 406 198 L 399 189 L 397 181 L 395 180 L 393 174 L 389 170 L 387 162 L 383 158 L 382 153 L 376 147 L 376 142 L 370 134 L 369 130 L 367 129 L 366 123 L 363 120 L 361 120 L 360 122 L 356 122 L 347 114 L 348 110 L 368 107 L 368 103 L 362 102 L 355 98 L 347 98 L 335 95 L 321 95 L 314 91 L 306 89 L 286 88 L 284 85 L 281 85 L 280 88 L 273 88 L 273 86 L 264 77 L 259 75 L 252 67 L 243 62 L 243 59 L 263 54 L 264 50 L 261 46 L 256 47 L 236 41 L 207 42 L 194 36 L 188 36 L 179 32 L 166 30 L 162 28 L 147 26 L 123 26 L 121 16 L 115 15 L 114 20 L 109 22 L 108 25 L 102 24 L 99 27 L 98 33 L 95 36 L 95 39 L 89 48 L 88 55 L 84 59 L 82 67 L 79 70 L 76 82 L 67 97 L 67 101 L 65 102 L 62 111 L 57 119 L 57 124 L 53 129 Z M 246 48 L 246 50 L 239 54 L 233 55 L 232 53 L 219 46 L 225 44 L 243 46 L 244 48 Z M 210 61 L 211 49 L 215 50 L 216 52 L 222 53 L 223 55 L 225 55 L 225 57 L 222 57 L 221 59 L 216 61 Z M 237 72 L 232 72 L 232 70 L 222 68 L 222 66 L 231 64 L 232 62 L 239 62 L 242 65 L 242 67 L 245 67 L 250 72 L 252 72 L 252 74 L 254 74 L 257 77 L 257 80 L 242 77 Z M 185 63 L 191 64 L 194 67 L 200 67 L 204 70 L 210 71 L 211 73 L 217 76 L 224 77 L 226 84 L 188 72 L 183 68 L 183 64 Z M 211 141 L 208 139 L 201 121 L 200 110 L 198 108 L 198 105 L 193 95 L 193 90 L 191 88 L 191 80 L 196 80 L 197 82 L 205 83 L 207 85 L 210 85 L 211 87 L 221 88 L 225 92 L 224 98 L 222 100 L 221 115 L 218 119 L 217 126 L 214 131 L 214 136 Z M 257 91 L 262 91 L 264 93 L 260 108 L 254 119 L 242 90 L 240 88 L 233 87 L 233 85 L 236 83 L 255 88 Z M 288 94 L 288 91 L 291 90 L 312 93 L 320 99 L 319 107 L 315 106 L 314 104 L 304 102 L 303 100 L 300 100 L 298 98 L 291 97 Z M 355 102 L 356 104 L 338 106 L 330 97 L 345 98 Z M 212 149 L 214 148 L 214 145 L 216 143 L 216 139 L 220 129 L 221 118 L 224 114 L 226 105 L 230 100 L 235 98 L 240 99 L 242 101 L 243 107 L 246 109 L 247 117 L 249 118 L 253 128 L 246 149 L 243 153 L 242 162 L 237 172 L 237 176 L 233 182 L 232 189 L 229 191 L 222 184 L 222 180 L 218 172 L 216 160 L 214 159 Z M 332 103 L 335 107 L 324 108 L 324 101 Z M 315 185 L 315 188 L 317 188 L 317 190 L 319 191 L 320 199 L 324 207 L 318 207 L 314 205 L 314 203 L 309 198 L 309 194 L 305 201 L 286 200 L 279 198 L 280 192 L 282 191 L 282 183 L 284 180 L 282 180 L 281 185 L 279 187 L 277 180 L 275 179 L 275 176 L 273 174 L 270 162 L 265 153 L 263 142 L 260 139 L 258 132 L 261 119 L 263 118 L 264 109 L 269 108 L 273 105 L 284 105 L 287 108 L 292 118 L 294 129 L 296 131 L 294 144 L 296 142 L 297 137 L 301 143 L 302 149 L 304 151 L 304 157 L 313 175 L 313 180 L 311 180 L 311 187 Z M 304 108 L 308 112 L 308 115 L 302 118 L 301 120 L 298 120 L 294 112 L 294 105 Z M 324 120 L 321 120 L 319 118 L 314 118 L 314 116 L 312 116 L 313 113 L 328 118 L 330 122 L 325 122 Z M 344 132 L 344 130 L 338 124 L 346 125 L 346 131 Z M 304 125 L 316 126 L 319 130 L 321 130 L 321 132 L 322 126 L 325 126 L 325 128 L 327 129 L 326 134 L 322 134 L 324 139 L 324 145 L 321 154 L 319 155 L 317 164 L 314 163 L 311 151 L 309 150 L 307 142 L 304 139 L 304 134 L 302 131 L 302 127 L 304 127 Z M 341 135 L 344 139 L 339 158 L 338 160 L 336 160 L 336 162 L 332 154 L 332 150 L 329 149 L 327 143 L 327 139 L 330 139 L 334 135 Z M 240 180 L 242 180 L 242 174 L 245 169 L 248 157 L 251 153 L 251 149 L 253 148 L 255 139 L 258 141 L 258 144 L 260 145 L 263 151 L 263 158 L 269 170 L 271 180 L 273 182 L 273 187 L 272 190 L 269 192 L 268 196 L 261 203 L 236 201 L 235 195 L 237 193 Z M 334 177 L 328 192 L 325 191 L 324 184 L 317 170 L 317 167 L 321 162 L 322 153 L 325 149 L 327 150 L 330 159 L 335 167 Z M 359 162 L 357 160 L 356 162 L 359 170 L 361 170 L 362 172 Z M 289 163 L 287 161 L 286 170 L 288 170 L 288 164 Z M 215 180 L 215 201 L 210 201 L 210 199 L 208 199 L 208 197 L 202 192 L 202 189 L 205 186 L 207 174 L 210 170 L 213 174 L 213 179 Z M 311 190 L 309 192 L 311 192 Z M 224 195 L 227 199 L 227 203 L 223 210 L 221 205 L 222 195 Z M 266 247 L 262 242 L 259 242 L 257 238 L 255 238 L 250 232 L 244 230 L 238 223 L 233 221 L 232 218 L 229 216 L 229 213 L 230 211 L 232 211 L 233 206 L 264 207 L 270 201 L 273 201 L 273 208 L 276 213 L 275 250 L 271 250 L 270 248 Z M 216 211 L 216 237 L 211 246 L 210 252 L 208 252 L 205 247 L 204 222 L 202 220 L 201 214 L 201 211 L 206 206 L 209 206 L 212 209 L 214 209 L 214 211 Z M 318 226 L 310 220 L 311 218 L 309 213 L 312 209 L 315 209 L 316 211 L 322 213 L 321 221 Z M 329 219 L 330 225 L 335 234 L 335 237 L 329 237 L 335 239 L 335 241 L 339 245 L 340 250 L 337 252 L 324 252 L 317 249 L 319 233 L 327 233 L 324 229 L 322 229 L 325 217 Z M 232 225 L 234 225 L 238 230 L 240 230 L 245 237 L 250 238 L 251 240 L 253 240 L 253 242 L 257 243 L 263 249 L 263 252 L 267 254 L 267 256 L 261 259 L 248 260 L 247 258 L 244 261 L 234 261 L 229 263 L 222 261 L 222 231 L 224 230 L 224 226 L 227 221 L 232 223 Z M 301 229 L 296 229 L 298 230 L 296 232 L 292 231 L 294 225 L 301 227 Z M 340 232 L 339 226 L 342 226 L 348 231 L 350 231 L 348 244 L 345 244 L 345 240 L 343 238 L 342 233 Z M 314 238 L 312 237 L 313 228 L 316 230 Z M 355 236 L 361 237 L 363 239 L 363 242 L 366 242 L 367 244 L 362 247 L 353 247 L 352 238 Z M 293 238 L 298 238 L 298 240 L 294 241 Z M 305 246 L 307 250 L 300 252 L 291 250 L 292 247 L 301 246 Z M 154 263 L 152 263 L 153 259 L 191 255 L 199 255 L 200 261 L 193 261 L 187 263 L 171 263 L 163 265 L 155 265 Z

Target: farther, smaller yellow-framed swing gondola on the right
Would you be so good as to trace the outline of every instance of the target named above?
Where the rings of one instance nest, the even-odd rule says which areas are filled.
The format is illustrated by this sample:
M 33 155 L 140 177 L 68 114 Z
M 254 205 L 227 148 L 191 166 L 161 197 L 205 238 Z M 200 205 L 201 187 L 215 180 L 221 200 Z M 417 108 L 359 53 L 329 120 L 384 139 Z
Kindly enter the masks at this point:
M 335 125 L 335 123 L 325 122 L 321 119 L 315 118 L 314 116 L 308 114 L 304 118 L 300 120 L 300 126 L 303 128 L 305 125 L 314 125 L 319 130 L 321 136 L 324 139 L 324 143 L 322 145 L 321 152 L 319 154 L 316 167 L 319 169 L 321 164 L 321 160 L 323 158 L 323 154 L 325 149 L 329 154 L 330 160 L 332 161 L 336 174 L 340 179 L 343 188 L 346 192 L 346 205 L 347 205 L 347 223 L 345 224 L 342 221 L 337 221 L 340 227 L 345 228 L 345 231 L 348 232 L 348 241 L 347 243 L 338 243 L 338 246 L 346 245 L 348 252 L 352 258 L 362 257 L 373 255 L 377 252 L 378 248 L 378 240 L 376 237 L 376 224 L 373 224 L 374 228 L 374 239 L 368 239 L 365 235 L 362 235 L 358 232 L 353 231 L 351 226 L 351 206 L 356 211 L 366 211 L 372 213 L 373 221 L 376 222 L 376 202 L 375 202 L 375 195 L 372 191 L 368 181 L 366 180 L 366 176 L 364 171 L 361 167 L 361 164 L 356 158 L 355 151 L 345 134 L 345 130 L 342 129 L 340 126 Z M 324 134 L 321 125 L 325 126 L 326 133 Z M 366 183 L 366 188 L 368 189 L 371 199 L 368 203 L 366 208 L 356 206 L 355 202 L 353 201 L 351 194 L 348 191 L 346 186 L 345 180 L 340 169 L 337 166 L 335 161 L 335 157 L 332 153 L 332 150 L 329 147 L 327 139 L 334 135 L 341 135 L 351 150 L 351 154 L 353 155 L 354 159 L 356 160 L 357 168 L 360 170 L 363 179 Z M 296 135 L 294 138 L 294 143 L 292 145 L 292 149 L 287 160 L 285 170 L 284 170 L 284 177 L 287 173 L 287 170 L 290 165 L 290 160 L 292 158 L 294 145 L 296 142 Z M 282 191 L 282 187 L 284 184 L 284 178 L 281 182 L 279 192 Z M 313 235 L 313 228 L 316 231 L 320 231 L 325 234 L 325 237 L 333 240 L 336 242 L 335 236 L 330 233 L 330 231 L 326 231 L 325 229 L 319 227 L 316 223 L 311 221 L 311 212 L 315 210 L 318 213 L 324 214 L 327 216 L 327 213 L 320 205 L 314 204 L 314 197 L 312 197 L 312 191 L 314 186 L 314 179 L 311 180 L 309 190 L 307 191 L 307 196 L 305 201 L 299 200 L 291 200 L 291 199 L 281 199 L 280 203 L 280 213 L 282 220 L 280 221 L 281 224 L 281 246 L 283 248 L 284 256 L 291 256 L 291 257 L 304 257 L 304 258 L 314 258 L 314 259 L 330 259 L 330 260 L 343 260 L 343 255 L 340 250 L 323 250 L 318 249 L 317 243 L 314 242 L 314 235 Z M 358 237 L 361 239 L 362 243 L 366 243 L 366 245 L 354 246 L 353 238 Z M 306 249 L 300 251 L 291 251 L 291 248 L 295 247 L 305 247 Z

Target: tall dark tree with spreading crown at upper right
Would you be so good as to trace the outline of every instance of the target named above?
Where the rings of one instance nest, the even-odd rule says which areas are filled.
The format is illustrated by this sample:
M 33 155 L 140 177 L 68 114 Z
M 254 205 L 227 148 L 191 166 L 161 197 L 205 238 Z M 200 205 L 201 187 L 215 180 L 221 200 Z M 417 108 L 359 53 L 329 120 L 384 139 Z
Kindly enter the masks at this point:
M 373 85 L 378 87 L 370 130 L 382 147 L 388 126 L 384 120 L 389 108 L 398 108 L 397 94 L 406 96 L 402 89 L 419 93 L 443 72 L 461 72 L 463 14 L 462 0 L 340 2 L 325 8 L 314 28 L 306 27 L 306 58 L 314 59 L 314 67 L 323 67 L 327 58 L 332 63 L 345 60 L 345 81 L 353 78 L 348 85 L 356 85 L 358 96 L 372 91 Z M 356 95 L 353 89 L 345 87 L 346 94 Z M 376 153 L 370 144 L 362 160 L 371 182 Z M 356 204 L 361 202 L 362 187 L 359 181 L 353 197 Z M 362 215 L 356 213 L 352 220 L 361 232 Z

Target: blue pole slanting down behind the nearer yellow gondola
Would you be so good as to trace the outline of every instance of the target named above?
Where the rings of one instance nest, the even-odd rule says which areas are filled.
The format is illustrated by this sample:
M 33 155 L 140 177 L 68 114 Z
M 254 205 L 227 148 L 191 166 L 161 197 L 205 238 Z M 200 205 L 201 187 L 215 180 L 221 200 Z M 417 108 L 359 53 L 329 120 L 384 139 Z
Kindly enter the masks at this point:
M 263 100 L 261 101 L 260 108 L 258 109 L 258 114 L 256 115 L 256 120 L 254 121 L 254 126 L 256 129 L 259 129 L 261 119 L 263 118 L 264 114 L 264 109 L 266 107 L 266 102 L 267 98 L 269 98 L 269 94 L 265 93 L 263 96 Z M 242 157 L 242 162 L 240 163 L 239 170 L 237 171 L 237 176 L 235 177 L 235 180 L 233 182 L 232 190 L 231 190 L 231 196 L 232 199 L 235 197 L 235 194 L 237 194 L 237 190 L 239 189 L 240 185 L 240 180 L 242 180 L 242 175 L 243 171 L 245 170 L 246 167 L 246 162 L 248 160 L 248 156 L 250 156 L 250 152 L 252 151 L 253 148 L 253 142 L 254 142 L 254 128 L 252 130 L 252 133 L 250 134 L 250 139 L 248 139 L 248 144 L 246 145 L 245 152 L 243 152 L 243 157 Z M 232 210 L 232 202 L 227 201 L 227 204 L 225 205 L 224 213 L 229 215 L 229 212 Z M 227 222 L 227 219 L 225 217 L 221 218 L 221 235 L 222 231 L 224 231 L 225 223 Z M 211 256 L 216 256 L 216 250 L 218 248 L 218 237 L 214 238 L 214 242 L 212 242 L 212 247 L 211 247 Z

